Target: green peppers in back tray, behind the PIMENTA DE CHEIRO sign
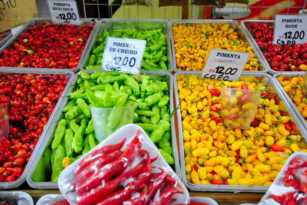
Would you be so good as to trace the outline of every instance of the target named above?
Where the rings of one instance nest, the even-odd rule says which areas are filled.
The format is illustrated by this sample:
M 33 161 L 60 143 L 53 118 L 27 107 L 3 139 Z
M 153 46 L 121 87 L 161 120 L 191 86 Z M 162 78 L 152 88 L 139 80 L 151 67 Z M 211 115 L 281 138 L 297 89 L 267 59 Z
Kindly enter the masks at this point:
M 101 69 L 103 51 L 107 36 L 123 37 L 130 39 L 146 40 L 146 47 L 142 59 L 141 70 L 168 70 L 167 45 L 162 29 L 141 31 L 136 29 L 115 29 L 113 31 L 103 30 L 103 34 L 97 39 L 97 46 L 93 49 L 84 69 Z

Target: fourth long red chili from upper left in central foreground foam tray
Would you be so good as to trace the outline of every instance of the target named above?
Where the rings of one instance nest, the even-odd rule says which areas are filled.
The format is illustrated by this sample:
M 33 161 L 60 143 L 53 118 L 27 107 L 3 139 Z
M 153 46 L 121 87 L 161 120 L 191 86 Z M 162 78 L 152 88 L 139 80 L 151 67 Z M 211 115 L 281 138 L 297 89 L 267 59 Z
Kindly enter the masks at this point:
M 139 164 L 132 169 L 118 175 L 115 179 L 105 182 L 98 187 L 85 192 L 77 197 L 76 203 L 78 205 L 90 205 L 98 202 L 107 195 L 113 193 L 116 189 L 120 188 L 124 181 L 136 176 L 143 169 L 144 164 Z

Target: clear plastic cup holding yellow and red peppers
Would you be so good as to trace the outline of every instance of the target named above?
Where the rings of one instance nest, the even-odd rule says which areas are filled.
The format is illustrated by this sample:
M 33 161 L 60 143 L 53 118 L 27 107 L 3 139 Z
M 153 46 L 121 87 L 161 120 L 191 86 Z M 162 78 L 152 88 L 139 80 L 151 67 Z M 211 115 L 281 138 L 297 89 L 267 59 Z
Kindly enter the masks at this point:
M 224 125 L 248 129 L 254 120 L 261 91 L 225 88 L 221 89 L 221 117 Z

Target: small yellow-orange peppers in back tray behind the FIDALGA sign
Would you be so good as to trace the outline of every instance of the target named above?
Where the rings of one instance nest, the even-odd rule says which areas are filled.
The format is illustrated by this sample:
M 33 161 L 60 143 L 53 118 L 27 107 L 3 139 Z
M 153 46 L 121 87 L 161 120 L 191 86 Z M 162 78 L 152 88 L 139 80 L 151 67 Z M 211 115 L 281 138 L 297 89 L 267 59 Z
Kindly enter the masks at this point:
M 259 69 L 252 47 L 228 23 L 180 23 L 172 29 L 178 70 L 204 70 L 211 48 L 247 51 L 250 56 L 244 70 Z

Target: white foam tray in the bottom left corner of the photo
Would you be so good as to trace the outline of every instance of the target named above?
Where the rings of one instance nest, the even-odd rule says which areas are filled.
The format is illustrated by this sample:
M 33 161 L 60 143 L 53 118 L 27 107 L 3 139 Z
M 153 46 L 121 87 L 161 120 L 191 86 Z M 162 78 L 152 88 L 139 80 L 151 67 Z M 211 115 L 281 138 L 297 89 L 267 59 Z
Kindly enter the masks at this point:
M 32 197 L 26 192 L 0 192 L 0 205 L 33 205 Z

